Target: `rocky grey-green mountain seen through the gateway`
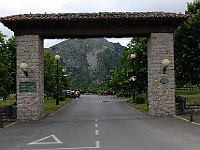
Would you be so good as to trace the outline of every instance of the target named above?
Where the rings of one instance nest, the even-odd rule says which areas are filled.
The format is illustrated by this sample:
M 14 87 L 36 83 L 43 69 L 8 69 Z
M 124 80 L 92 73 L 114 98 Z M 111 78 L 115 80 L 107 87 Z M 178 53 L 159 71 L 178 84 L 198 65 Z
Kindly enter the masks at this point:
M 120 65 L 124 47 L 105 38 L 68 39 L 47 50 L 60 55 L 71 85 L 83 90 L 102 88 L 110 70 Z

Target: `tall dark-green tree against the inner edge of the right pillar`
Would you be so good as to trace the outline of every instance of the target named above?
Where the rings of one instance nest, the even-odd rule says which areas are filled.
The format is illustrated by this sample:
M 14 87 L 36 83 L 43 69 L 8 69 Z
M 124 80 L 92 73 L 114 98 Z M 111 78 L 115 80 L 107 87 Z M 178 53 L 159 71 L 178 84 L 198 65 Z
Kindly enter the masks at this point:
M 130 58 L 131 54 L 136 54 L 133 64 Z M 133 38 L 131 42 L 124 49 L 121 64 L 129 78 L 137 76 L 136 91 L 139 93 L 146 92 L 147 90 L 147 39 L 146 38 Z M 134 66 L 133 66 L 134 65 Z M 134 69 L 134 71 L 133 71 Z M 134 72 L 134 73 L 133 73 Z M 135 83 L 134 83 L 135 84 Z

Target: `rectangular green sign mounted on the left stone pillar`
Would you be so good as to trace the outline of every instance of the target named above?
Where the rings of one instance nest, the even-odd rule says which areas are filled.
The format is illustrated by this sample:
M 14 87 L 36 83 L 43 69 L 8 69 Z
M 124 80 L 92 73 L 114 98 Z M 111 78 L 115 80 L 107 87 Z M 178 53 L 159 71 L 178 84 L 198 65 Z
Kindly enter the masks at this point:
M 20 82 L 19 92 L 36 92 L 37 90 L 36 82 Z

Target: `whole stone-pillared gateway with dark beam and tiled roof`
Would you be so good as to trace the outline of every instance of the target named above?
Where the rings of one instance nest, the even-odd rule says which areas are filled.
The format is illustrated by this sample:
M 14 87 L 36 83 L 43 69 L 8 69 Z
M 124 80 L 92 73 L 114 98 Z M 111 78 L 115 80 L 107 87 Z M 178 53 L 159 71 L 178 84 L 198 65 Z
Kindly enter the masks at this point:
M 148 100 L 150 115 L 175 113 L 173 32 L 187 15 L 164 12 L 99 12 L 22 14 L 1 17 L 17 39 L 17 117 L 43 117 L 43 39 L 148 37 Z M 163 73 L 163 59 L 171 64 Z M 20 64 L 29 65 L 29 76 Z M 27 88 L 27 89 L 26 89 Z

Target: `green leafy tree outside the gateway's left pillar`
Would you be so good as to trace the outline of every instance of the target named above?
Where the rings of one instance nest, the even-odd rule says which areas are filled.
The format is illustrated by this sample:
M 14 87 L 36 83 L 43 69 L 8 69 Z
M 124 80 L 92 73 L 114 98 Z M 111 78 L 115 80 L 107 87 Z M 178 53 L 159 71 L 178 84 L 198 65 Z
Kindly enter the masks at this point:
M 16 90 L 16 42 L 0 32 L 0 97 L 4 99 Z

